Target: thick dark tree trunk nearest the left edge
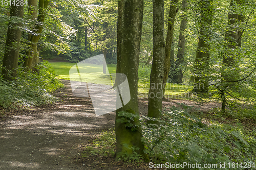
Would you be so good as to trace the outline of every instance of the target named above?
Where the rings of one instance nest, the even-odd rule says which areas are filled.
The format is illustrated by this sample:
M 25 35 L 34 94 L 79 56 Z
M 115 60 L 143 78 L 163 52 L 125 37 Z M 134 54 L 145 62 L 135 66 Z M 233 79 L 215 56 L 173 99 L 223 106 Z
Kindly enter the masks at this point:
M 23 18 L 24 6 L 14 6 L 11 4 L 10 17 Z M 22 26 L 22 23 L 9 22 L 9 27 L 6 36 L 5 55 L 3 60 L 2 74 L 4 79 L 12 80 L 16 76 L 18 67 L 18 57 L 20 48 L 20 38 L 22 37 L 22 31 L 18 27 Z

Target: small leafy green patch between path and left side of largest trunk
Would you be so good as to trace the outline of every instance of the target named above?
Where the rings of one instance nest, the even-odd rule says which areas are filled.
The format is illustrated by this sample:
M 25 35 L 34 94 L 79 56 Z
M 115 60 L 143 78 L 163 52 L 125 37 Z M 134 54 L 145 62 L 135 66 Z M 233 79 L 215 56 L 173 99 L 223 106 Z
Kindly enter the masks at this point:
M 108 156 L 115 154 L 116 136 L 115 131 L 102 132 L 99 137 L 95 138 L 91 143 L 84 146 L 82 157 L 91 156 Z

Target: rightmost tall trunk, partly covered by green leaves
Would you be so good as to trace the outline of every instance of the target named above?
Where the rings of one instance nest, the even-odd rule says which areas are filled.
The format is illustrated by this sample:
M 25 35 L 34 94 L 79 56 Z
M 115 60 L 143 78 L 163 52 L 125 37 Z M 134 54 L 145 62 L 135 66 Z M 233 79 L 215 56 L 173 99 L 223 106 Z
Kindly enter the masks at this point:
M 229 87 L 233 86 L 233 83 L 228 83 L 227 81 L 232 81 L 233 79 L 236 79 L 236 72 L 233 72 L 232 69 L 237 67 L 236 64 L 236 58 L 238 58 L 238 55 L 233 54 L 232 52 L 238 48 L 241 47 L 242 42 L 242 32 L 238 30 L 238 22 L 243 22 L 244 16 L 238 14 L 233 9 L 235 7 L 235 4 L 241 5 L 241 0 L 231 0 L 230 1 L 230 11 L 228 13 L 228 26 L 229 30 L 227 31 L 225 35 L 225 39 L 227 41 L 227 53 L 222 58 L 222 80 L 221 80 L 221 98 L 222 98 L 222 110 L 224 111 L 226 109 L 226 90 Z M 230 52 L 231 51 L 231 52 Z

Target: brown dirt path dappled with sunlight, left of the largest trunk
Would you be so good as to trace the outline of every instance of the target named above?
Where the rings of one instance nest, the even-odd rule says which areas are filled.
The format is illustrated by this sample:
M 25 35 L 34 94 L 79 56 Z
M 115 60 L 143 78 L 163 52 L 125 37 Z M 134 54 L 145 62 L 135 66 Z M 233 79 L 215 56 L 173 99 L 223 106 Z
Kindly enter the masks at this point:
M 70 87 L 57 95 L 55 107 L 0 123 L 0 169 L 84 169 L 75 163 L 78 146 L 113 128 L 115 114 L 96 116 L 90 99 Z

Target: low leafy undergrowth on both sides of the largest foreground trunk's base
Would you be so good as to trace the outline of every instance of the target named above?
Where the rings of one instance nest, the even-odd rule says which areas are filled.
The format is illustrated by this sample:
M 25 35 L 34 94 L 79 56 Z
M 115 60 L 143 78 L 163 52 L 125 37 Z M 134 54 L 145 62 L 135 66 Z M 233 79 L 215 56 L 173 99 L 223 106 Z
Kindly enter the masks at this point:
M 126 120 L 130 120 L 131 116 L 122 115 L 127 117 L 123 119 L 123 123 L 129 123 Z M 146 120 L 157 120 L 160 126 L 148 125 Z M 249 163 L 251 167 L 256 166 L 256 132 L 244 130 L 241 123 L 236 127 L 212 121 L 206 123 L 186 110 L 176 108 L 162 113 L 159 119 L 142 116 L 140 122 L 143 130 L 142 140 L 145 144 L 144 153 L 148 154 L 150 162 L 218 165 L 216 168 L 207 169 L 242 169 L 242 162 Z M 130 125 L 127 126 L 129 127 Z M 104 132 L 85 147 L 82 156 L 113 156 L 115 142 L 114 129 Z M 135 152 L 135 148 L 129 149 L 133 150 L 133 153 L 124 154 L 122 160 L 130 163 L 140 162 L 142 156 Z M 220 163 L 225 163 L 225 168 L 220 167 Z

